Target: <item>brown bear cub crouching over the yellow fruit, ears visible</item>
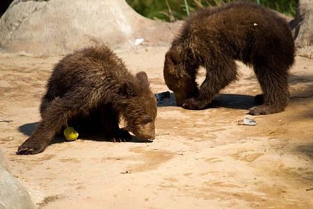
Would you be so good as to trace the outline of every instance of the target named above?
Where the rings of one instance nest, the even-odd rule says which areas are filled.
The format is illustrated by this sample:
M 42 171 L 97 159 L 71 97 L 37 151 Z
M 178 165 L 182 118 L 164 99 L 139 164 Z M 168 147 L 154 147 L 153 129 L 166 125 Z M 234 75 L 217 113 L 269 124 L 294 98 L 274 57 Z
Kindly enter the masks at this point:
M 88 47 L 56 64 L 40 105 L 42 120 L 17 154 L 41 153 L 67 125 L 79 136 L 104 134 L 113 141 L 154 139 L 157 101 L 147 74 L 131 75 L 106 46 Z M 120 116 L 126 127 L 120 129 Z

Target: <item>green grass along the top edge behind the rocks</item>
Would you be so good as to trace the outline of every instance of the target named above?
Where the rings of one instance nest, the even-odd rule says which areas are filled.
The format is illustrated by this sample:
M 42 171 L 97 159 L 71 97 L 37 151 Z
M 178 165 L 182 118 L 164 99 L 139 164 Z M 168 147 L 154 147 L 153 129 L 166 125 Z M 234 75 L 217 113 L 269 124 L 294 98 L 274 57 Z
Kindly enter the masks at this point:
M 152 20 L 174 22 L 184 20 L 188 13 L 201 7 L 218 6 L 231 0 L 126 0 L 137 13 Z M 252 0 L 251 0 L 252 1 Z M 255 0 L 267 8 L 294 17 L 298 0 Z

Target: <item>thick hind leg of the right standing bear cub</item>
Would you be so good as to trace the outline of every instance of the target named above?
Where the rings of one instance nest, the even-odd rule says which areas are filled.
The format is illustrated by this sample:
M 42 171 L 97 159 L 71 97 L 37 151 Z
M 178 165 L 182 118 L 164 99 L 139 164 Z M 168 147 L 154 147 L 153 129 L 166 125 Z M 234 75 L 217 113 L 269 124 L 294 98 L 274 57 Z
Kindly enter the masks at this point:
M 284 111 L 289 102 L 288 71 L 255 66 L 255 74 L 264 94 L 255 96 L 255 101 L 262 105 L 250 108 L 249 114 L 257 116 Z

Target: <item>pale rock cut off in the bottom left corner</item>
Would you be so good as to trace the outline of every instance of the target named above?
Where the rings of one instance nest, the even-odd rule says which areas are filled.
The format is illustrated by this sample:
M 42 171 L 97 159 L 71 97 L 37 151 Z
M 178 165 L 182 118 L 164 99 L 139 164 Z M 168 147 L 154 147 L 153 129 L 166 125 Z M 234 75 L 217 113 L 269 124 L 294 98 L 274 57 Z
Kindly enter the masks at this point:
M 35 208 L 25 187 L 8 170 L 8 164 L 0 150 L 0 208 Z

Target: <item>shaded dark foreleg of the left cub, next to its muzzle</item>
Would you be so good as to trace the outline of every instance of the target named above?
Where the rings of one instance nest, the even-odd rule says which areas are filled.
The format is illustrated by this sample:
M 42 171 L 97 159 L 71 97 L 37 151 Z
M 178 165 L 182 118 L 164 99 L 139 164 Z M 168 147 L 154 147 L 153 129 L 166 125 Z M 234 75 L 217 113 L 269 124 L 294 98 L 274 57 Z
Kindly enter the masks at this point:
M 131 134 L 127 130 L 120 129 L 120 114 L 115 111 L 112 104 L 104 104 L 101 109 L 101 118 L 104 134 L 112 141 L 129 141 Z

